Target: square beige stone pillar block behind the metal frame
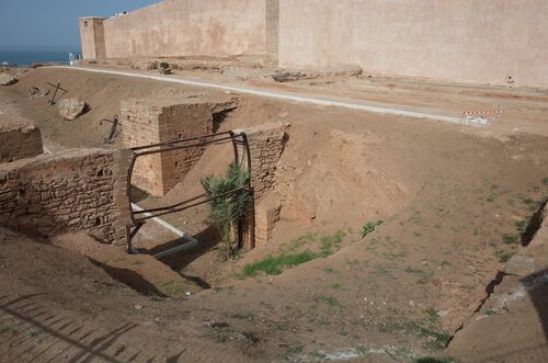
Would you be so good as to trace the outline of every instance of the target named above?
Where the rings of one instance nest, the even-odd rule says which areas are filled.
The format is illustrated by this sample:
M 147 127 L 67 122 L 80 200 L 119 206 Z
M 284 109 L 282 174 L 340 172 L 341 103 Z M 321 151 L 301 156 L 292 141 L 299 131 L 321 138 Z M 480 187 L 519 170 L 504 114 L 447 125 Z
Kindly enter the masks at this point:
M 121 125 L 126 147 L 209 135 L 213 133 L 213 105 L 192 99 L 128 99 L 122 101 Z M 164 195 L 184 179 L 204 149 L 191 147 L 140 157 L 132 182 L 153 195 Z

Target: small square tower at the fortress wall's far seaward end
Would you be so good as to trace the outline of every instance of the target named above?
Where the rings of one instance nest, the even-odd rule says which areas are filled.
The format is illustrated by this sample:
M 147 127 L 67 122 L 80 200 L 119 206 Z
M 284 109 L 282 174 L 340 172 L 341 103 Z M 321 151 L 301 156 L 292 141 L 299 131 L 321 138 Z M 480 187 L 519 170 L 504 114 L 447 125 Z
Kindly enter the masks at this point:
M 81 18 L 80 39 L 83 59 L 106 58 L 104 25 L 105 18 Z

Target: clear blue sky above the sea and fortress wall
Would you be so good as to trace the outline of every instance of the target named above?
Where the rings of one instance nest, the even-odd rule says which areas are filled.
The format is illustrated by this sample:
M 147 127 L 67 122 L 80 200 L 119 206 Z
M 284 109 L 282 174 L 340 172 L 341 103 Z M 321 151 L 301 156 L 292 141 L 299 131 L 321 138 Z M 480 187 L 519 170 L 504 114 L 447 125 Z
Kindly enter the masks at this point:
M 0 0 L 0 49 L 80 48 L 78 18 L 112 16 L 159 0 Z M 75 50 L 76 50 L 75 49 Z

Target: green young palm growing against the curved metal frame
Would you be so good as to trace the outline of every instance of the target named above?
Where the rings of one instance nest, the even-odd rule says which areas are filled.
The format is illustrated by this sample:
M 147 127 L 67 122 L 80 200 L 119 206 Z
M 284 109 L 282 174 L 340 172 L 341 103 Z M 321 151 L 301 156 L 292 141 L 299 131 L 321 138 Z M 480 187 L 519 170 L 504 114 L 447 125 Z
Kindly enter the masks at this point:
M 220 256 L 228 260 L 238 248 L 240 240 L 238 230 L 246 218 L 250 204 L 251 193 L 243 189 L 249 183 L 249 172 L 239 165 L 231 163 L 222 177 L 208 175 L 202 179 L 202 185 L 209 201 L 209 217 L 217 227 L 221 242 L 219 243 Z

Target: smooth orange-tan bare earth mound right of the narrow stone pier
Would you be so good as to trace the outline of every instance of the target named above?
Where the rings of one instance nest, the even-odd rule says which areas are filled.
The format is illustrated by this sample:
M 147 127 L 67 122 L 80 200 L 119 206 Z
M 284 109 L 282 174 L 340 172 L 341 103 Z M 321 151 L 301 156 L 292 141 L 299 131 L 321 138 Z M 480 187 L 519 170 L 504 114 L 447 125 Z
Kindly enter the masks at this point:
M 397 212 L 407 200 L 406 186 L 367 160 L 381 141 L 372 132 L 331 131 L 304 167 L 282 167 L 276 189 L 285 201 L 282 217 L 363 222 Z

